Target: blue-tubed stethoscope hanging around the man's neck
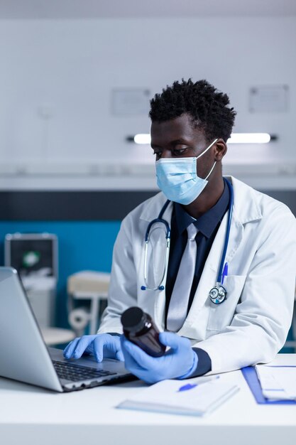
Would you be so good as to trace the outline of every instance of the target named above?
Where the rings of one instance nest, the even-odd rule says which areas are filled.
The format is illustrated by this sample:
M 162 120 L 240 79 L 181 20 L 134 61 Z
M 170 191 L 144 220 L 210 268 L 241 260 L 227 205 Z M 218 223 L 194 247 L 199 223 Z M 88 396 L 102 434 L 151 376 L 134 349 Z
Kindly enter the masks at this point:
M 227 298 L 227 291 L 224 286 L 224 279 L 227 277 L 228 274 L 228 263 L 225 262 L 226 258 L 226 252 L 227 247 L 229 243 L 229 233 L 230 233 L 230 227 L 231 227 L 231 218 L 232 218 L 232 210 L 234 208 L 234 190 L 232 188 L 231 183 L 228 181 L 228 179 L 224 178 L 224 181 L 226 181 L 227 185 L 229 186 L 229 213 L 228 213 L 228 219 L 227 219 L 227 226 L 226 226 L 226 235 L 224 240 L 224 247 L 221 255 L 220 265 L 219 265 L 219 272 L 216 280 L 216 285 L 212 287 L 212 289 L 209 291 L 209 299 L 214 304 L 221 304 L 223 301 Z M 152 290 L 152 291 L 163 291 L 165 289 L 165 286 L 163 286 L 163 280 L 165 279 L 165 271 L 168 267 L 168 257 L 170 252 L 170 225 L 168 224 L 168 221 L 163 219 L 163 214 L 165 213 L 165 210 L 168 208 L 168 205 L 170 204 L 170 200 L 167 200 L 165 202 L 165 205 L 163 205 L 163 208 L 160 210 L 160 214 L 158 215 L 158 218 L 155 218 L 154 220 L 150 221 L 148 224 L 146 234 L 145 234 L 145 250 L 144 250 L 144 286 L 141 286 L 141 290 Z M 150 232 L 151 227 L 155 224 L 163 224 L 165 225 L 165 239 L 166 239 L 166 252 L 165 252 L 165 259 L 164 259 L 164 268 L 163 268 L 163 274 L 160 277 L 160 282 L 157 286 L 149 286 L 148 285 L 148 245 L 149 245 L 149 238 L 150 238 Z

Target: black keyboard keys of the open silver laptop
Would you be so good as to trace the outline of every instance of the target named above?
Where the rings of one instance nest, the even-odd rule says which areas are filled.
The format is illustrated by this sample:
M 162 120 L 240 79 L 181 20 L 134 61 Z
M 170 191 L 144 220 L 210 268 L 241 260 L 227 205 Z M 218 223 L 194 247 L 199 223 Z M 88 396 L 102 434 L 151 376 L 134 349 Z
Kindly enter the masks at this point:
M 71 380 L 71 382 L 80 382 L 80 380 L 92 380 L 98 377 L 116 375 L 116 372 L 94 370 L 87 366 L 73 365 L 72 363 L 59 362 L 57 360 L 53 360 L 53 365 L 58 377 L 65 380 Z

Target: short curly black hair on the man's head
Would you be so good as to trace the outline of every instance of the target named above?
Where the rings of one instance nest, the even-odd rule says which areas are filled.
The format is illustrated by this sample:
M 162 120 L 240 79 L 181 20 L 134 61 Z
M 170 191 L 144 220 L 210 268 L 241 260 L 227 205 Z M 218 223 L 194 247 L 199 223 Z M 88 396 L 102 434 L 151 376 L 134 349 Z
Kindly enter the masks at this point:
M 207 80 L 192 82 L 182 79 L 163 89 L 150 100 L 152 122 L 165 122 L 184 113 L 190 114 L 194 127 L 202 129 L 208 141 L 227 141 L 231 135 L 236 112 L 229 106 L 229 97 Z

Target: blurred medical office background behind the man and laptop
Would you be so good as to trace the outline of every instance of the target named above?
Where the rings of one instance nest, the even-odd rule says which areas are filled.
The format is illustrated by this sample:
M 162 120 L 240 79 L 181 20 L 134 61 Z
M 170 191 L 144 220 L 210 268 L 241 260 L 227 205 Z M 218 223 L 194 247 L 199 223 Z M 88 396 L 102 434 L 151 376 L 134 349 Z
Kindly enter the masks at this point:
M 292 0 L 0 2 L 0 262 L 45 343 L 99 328 L 121 220 L 158 193 L 149 100 L 173 81 L 207 79 L 235 134 L 270 136 L 229 142 L 224 174 L 296 215 L 295 42 Z

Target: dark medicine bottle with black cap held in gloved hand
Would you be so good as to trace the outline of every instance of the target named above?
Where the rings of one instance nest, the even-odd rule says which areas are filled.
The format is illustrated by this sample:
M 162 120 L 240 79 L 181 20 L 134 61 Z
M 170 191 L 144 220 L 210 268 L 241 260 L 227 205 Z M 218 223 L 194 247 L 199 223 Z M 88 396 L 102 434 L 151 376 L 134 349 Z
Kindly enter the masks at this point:
M 124 335 L 147 354 L 161 357 L 165 353 L 165 345 L 159 341 L 159 331 L 150 315 L 141 308 L 133 306 L 121 315 Z

